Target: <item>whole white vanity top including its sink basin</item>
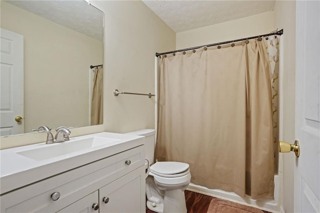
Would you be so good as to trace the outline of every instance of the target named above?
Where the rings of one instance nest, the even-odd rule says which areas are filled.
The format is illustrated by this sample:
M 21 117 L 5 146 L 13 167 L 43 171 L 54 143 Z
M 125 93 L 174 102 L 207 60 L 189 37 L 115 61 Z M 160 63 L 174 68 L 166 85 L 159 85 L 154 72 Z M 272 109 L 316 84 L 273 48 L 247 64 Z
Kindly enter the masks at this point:
M 100 132 L 53 144 L 0 150 L 0 194 L 144 143 L 143 136 Z

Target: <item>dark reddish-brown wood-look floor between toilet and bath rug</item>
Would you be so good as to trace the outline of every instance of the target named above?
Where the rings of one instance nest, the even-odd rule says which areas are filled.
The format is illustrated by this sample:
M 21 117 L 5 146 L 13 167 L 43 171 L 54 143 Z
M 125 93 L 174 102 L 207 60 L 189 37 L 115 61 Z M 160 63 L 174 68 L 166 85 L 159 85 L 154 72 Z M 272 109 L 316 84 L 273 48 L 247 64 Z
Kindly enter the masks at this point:
M 193 191 L 184 191 L 187 213 L 205 213 L 209 207 L 210 201 L 214 198 L 208 195 L 196 193 Z M 155 213 L 145 207 L 146 213 Z M 263 211 L 269 213 L 268 211 Z

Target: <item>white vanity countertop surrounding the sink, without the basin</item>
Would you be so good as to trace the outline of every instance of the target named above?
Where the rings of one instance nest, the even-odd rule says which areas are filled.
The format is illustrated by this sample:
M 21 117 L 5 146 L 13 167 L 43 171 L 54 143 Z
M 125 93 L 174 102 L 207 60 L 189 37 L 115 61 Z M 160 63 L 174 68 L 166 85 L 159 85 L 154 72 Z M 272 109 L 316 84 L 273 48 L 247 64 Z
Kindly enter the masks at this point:
M 69 142 L 75 143 L 77 140 L 93 136 L 116 138 L 117 140 L 46 159 L 30 158 L 17 153 L 44 146 L 56 148 L 53 146 L 59 146 L 62 143 Z M 45 142 L 42 142 L 2 149 L 0 150 L 0 194 L 142 144 L 144 144 L 143 136 L 100 132 L 72 137 L 69 141 L 65 142 L 53 144 L 45 144 Z

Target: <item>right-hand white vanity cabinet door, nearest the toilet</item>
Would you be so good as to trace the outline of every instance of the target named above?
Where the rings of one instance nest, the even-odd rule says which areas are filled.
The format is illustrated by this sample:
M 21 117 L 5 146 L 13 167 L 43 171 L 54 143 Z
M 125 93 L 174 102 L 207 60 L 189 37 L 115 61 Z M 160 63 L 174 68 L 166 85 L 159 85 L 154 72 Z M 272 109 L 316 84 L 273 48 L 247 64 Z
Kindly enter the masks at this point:
M 99 189 L 99 212 L 145 212 L 144 166 Z

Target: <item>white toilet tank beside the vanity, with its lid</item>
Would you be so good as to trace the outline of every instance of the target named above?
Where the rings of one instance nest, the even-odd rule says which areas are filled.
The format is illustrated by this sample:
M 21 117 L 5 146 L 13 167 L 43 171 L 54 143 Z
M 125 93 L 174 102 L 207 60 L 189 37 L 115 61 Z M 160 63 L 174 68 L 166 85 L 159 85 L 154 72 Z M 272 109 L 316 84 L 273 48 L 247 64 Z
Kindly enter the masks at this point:
M 125 132 L 125 134 L 145 136 L 145 159 L 147 159 L 149 161 L 149 165 L 151 165 L 154 160 L 155 130 L 144 128 L 136 131 Z

